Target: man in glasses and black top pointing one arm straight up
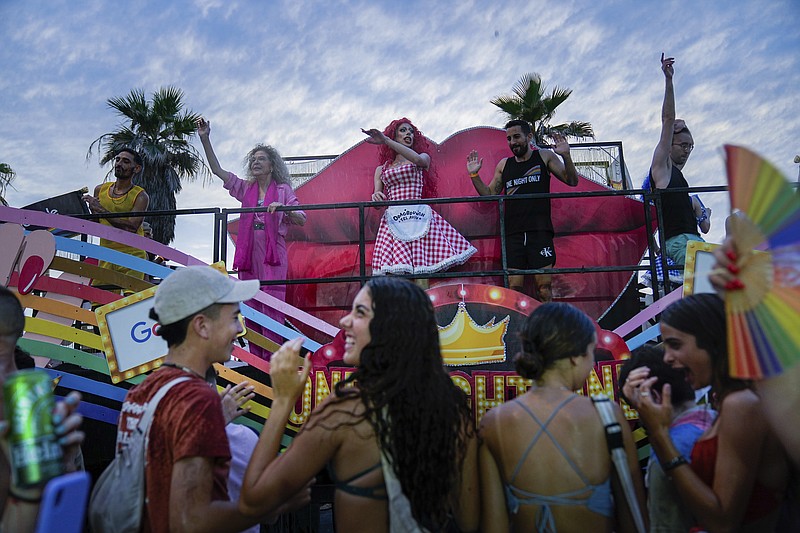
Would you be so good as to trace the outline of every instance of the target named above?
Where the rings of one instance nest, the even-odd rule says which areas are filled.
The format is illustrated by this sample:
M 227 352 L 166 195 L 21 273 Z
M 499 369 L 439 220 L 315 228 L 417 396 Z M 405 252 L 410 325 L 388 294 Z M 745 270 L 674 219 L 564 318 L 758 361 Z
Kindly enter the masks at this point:
M 653 162 L 650 165 L 650 187 L 653 189 L 675 189 L 688 187 L 683 177 L 684 165 L 694 149 L 694 139 L 686 127 L 686 122 L 675 118 L 675 89 L 672 85 L 674 74 L 672 57 L 664 58 L 661 54 L 661 70 L 664 72 L 665 90 L 664 104 L 661 108 L 661 138 L 658 141 Z M 702 241 L 697 225 L 702 220 L 710 226 L 710 210 L 703 210 L 705 218 L 698 217 L 699 207 L 692 202 L 688 192 L 671 192 L 661 195 L 661 207 L 664 213 L 664 234 L 667 256 L 679 265 L 686 262 L 686 243 Z

